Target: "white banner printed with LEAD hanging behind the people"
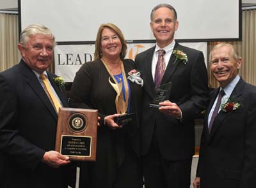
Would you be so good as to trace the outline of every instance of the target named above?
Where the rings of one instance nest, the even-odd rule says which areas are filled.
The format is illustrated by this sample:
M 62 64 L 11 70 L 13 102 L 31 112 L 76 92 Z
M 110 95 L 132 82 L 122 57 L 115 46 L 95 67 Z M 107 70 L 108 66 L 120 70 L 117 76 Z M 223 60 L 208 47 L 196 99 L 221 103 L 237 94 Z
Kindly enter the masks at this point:
M 207 62 L 207 43 L 180 43 L 186 47 L 198 49 L 204 53 Z M 135 59 L 136 55 L 155 43 L 127 44 L 126 58 Z M 93 61 L 94 45 L 56 45 L 54 48 L 55 74 L 61 76 L 65 82 L 73 82 L 77 70 L 88 61 Z

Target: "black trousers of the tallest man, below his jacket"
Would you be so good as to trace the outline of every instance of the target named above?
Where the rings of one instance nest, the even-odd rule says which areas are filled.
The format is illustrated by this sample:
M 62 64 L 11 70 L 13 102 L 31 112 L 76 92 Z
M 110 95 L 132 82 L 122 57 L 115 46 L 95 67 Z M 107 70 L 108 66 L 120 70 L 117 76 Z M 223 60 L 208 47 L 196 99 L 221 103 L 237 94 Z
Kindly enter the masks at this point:
M 143 156 L 145 188 L 189 188 L 191 159 L 169 161 L 159 152 L 154 138 L 147 155 Z

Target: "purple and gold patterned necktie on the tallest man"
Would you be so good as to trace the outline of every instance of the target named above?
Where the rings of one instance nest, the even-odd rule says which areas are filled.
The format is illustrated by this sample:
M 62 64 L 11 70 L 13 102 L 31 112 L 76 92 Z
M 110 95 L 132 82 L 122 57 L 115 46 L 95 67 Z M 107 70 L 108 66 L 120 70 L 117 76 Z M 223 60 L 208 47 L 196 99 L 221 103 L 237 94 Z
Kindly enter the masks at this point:
M 165 71 L 165 61 L 164 61 L 164 50 L 158 50 L 158 59 L 156 63 L 156 73 L 155 73 L 155 85 L 158 87 L 162 81 Z

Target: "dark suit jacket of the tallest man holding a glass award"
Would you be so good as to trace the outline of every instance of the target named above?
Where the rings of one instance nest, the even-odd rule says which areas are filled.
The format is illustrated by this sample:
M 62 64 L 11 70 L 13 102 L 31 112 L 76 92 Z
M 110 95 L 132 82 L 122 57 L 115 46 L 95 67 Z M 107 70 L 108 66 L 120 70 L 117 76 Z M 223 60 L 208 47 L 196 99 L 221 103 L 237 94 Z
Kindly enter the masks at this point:
M 202 52 L 183 47 L 179 43 L 174 49 L 182 50 L 188 55 L 188 62 L 176 62 L 172 54 L 164 72 L 161 84 L 172 82 L 169 100 L 177 103 L 182 110 L 182 121 L 174 119 L 157 108 L 150 108 L 154 98 L 155 84 L 152 77 L 152 57 L 155 47 L 136 56 L 135 63 L 141 71 L 144 80 L 143 117 L 141 122 L 142 154 L 148 152 L 153 133 L 159 150 L 165 159 L 189 159 L 195 152 L 195 122 L 196 115 L 208 104 L 208 78 Z

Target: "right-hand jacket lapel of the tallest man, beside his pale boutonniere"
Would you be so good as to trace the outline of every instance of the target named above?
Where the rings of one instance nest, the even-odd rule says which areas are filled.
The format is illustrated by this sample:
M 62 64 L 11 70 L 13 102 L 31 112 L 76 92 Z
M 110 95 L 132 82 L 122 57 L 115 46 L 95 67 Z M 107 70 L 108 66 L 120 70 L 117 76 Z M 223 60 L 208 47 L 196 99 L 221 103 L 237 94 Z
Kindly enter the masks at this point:
M 182 50 L 182 47 L 179 45 L 179 43 L 175 43 L 175 47 L 173 48 L 173 50 L 176 50 L 176 49 Z M 164 71 L 164 76 L 161 84 L 168 82 L 171 79 L 172 75 L 175 73 L 177 66 L 179 65 L 179 62 L 176 62 L 174 64 L 174 61 L 175 61 L 175 55 L 172 54 L 168 62 L 168 65 Z

